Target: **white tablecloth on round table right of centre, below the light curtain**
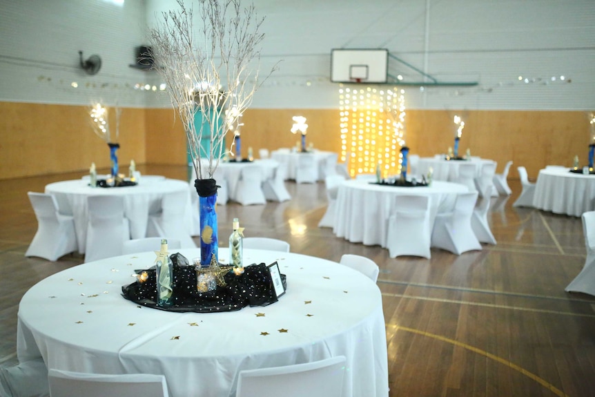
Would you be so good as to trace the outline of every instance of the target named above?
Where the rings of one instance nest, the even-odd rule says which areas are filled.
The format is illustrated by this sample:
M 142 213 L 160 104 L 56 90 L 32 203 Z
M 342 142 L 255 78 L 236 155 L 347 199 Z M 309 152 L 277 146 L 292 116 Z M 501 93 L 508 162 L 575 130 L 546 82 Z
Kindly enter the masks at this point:
M 430 199 L 430 222 L 436 214 L 453 208 L 457 193 L 468 189 L 462 184 L 435 181 L 431 186 L 396 187 L 349 180 L 339 186 L 335 204 L 337 237 L 366 245 L 387 246 L 387 221 L 394 211 L 395 196 L 425 195 Z

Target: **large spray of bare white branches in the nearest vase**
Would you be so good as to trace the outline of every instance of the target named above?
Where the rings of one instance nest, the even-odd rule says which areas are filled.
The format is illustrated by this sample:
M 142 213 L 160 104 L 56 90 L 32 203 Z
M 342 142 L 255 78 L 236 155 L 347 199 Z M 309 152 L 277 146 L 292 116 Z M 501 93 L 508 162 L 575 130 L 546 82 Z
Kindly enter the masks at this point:
M 202 26 L 193 27 L 193 8 L 177 0 L 179 10 L 163 12 L 162 23 L 149 31 L 149 38 L 155 68 L 184 125 L 200 180 L 213 177 L 225 149 L 228 126 L 241 125 L 237 118 L 262 84 L 257 46 L 264 39 L 259 32 L 264 18 L 257 17 L 253 5 L 242 8 L 240 0 L 196 2 Z M 194 119 L 198 112 L 204 123 L 197 128 Z M 206 138 L 210 139 L 210 151 L 201 153 L 201 140 Z M 204 155 L 208 156 L 206 167 L 201 162 Z

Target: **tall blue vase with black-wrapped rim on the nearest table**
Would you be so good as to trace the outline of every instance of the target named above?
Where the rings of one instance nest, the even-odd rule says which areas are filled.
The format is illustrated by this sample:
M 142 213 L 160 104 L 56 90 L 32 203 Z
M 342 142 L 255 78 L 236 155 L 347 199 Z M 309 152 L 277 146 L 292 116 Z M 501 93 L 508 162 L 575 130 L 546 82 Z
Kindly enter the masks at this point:
M 195 180 L 200 214 L 200 265 L 208 267 L 213 255 L 219 260 L 219 240 L 217 238 L 217 183 L 213 179 Z

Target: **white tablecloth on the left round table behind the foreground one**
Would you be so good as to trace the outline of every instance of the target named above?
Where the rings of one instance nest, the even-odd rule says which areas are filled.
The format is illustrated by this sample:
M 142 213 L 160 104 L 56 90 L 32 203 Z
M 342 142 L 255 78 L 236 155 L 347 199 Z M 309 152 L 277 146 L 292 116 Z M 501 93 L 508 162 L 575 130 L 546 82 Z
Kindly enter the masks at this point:
M 75 231 L 77 232 L 80 253 L 85 252 L 87 240 L 88 196 L 123 196 L 124 215 L 130 221 L 130 235 L 132 238 L 144 238 L 146 236 L 148 214 L 159 211 L 164 194 L 177 191 L 188 192 L 189 199 L 190 189 L 187 182 L 158 177 L 142 177 L 137 186 L 115 188 L 92 188 L 88 185 L 88 180 L 70 180 L 46 185 L 46 193 L 56 197 L 60 211 L 75 217 Z M 188 200 L 186 213 L 191 213 L 190 200 Z M 190 215 L 187 218 L 191 219 Z M 188 227 L 190 227 L 189 223 Z

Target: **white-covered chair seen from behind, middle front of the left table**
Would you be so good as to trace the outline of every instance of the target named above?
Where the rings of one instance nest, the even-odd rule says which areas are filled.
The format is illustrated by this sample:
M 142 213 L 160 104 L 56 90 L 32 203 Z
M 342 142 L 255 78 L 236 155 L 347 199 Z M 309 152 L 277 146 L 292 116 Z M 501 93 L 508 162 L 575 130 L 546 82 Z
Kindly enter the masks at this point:
M 124 197 L 91 195 L 87 197 L 87 207 L 85 262 L 121 255 L 124 241 L 130 240 Z

